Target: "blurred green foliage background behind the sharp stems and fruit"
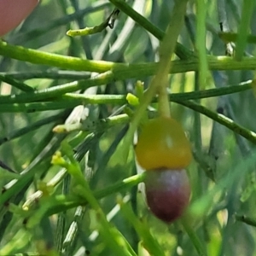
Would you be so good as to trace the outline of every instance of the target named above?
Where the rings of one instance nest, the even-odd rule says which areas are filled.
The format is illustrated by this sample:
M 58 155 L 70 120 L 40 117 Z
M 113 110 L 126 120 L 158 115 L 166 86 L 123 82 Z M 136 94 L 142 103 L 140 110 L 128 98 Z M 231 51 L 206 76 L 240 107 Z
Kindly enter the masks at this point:
M 225 55 L 224 42 L 218 36 L 220 31 L 218 4 L 225 12 L 227 20 L 224 22 L 228 25 L 230 32 L 238 32 L 241 24 L 241 10 L 247 3 L 239 0 L 202 2 L 206 6 L 207 54 Z M 135 5 L 134 9 L 155 26 L 163 31 L 166 30 L 174 1 L 140 0 L 127 1 L 127 3 Z M 196 1 L 189 1 L 183 30 L 178 38 L 179 43 L 191 50 L 195 50 L 196 3 Z M 108 1 L 42 0 L 32 15 L 13 32 L 4 36 L 4 40 L 9 44 L 19 44 L 26 48 L 82 59 L 125 63 L 158 61 L 159 40 L 142 26 L 132 22 L 123 12 L 119 14 L 119 19 L 115 21 L 113 29 L 108 27 L 106 30 L 88 37 L 67 37 L 66 32 L 69 29 L 101 24 L 110 15 L 113 8 L 114 6 Z M 256 32 L 255 21 L 254 5 L 249 27 L 251 34 Z M 253 57 L 255 44 L 247 44 L 244 51 L 245 55 Z M 177 59 L 177 57 L 175 58 Z M 86 72 L 61 71 L 57 67 L 34 65 L 1 56 L 0 74 L 9 75 L 10 78 L 22 81 L 35 90 L 47 89 L 57 84 L 90 77 L 90 73 Z M 209 70 L 206 83 L 201 84 L 199 90 L 236 85 L 253 79 L 253 77 L 254 71 L 252 70 L 213 72 Z M 151 78 L 137 77 L 137 79 L 111 82 L 98 86 L 94 93 L 99 95 L 135 93 L 135 84 L 138 79 L 143 80 L 144 86 L 147 88 Z M 198 73 L 172 74 L 170 75 L 170 88 L 171 85 L 172 93 L 197 90 Z M 1 83 L 1 95 L 19 93 L 20 90 L 15 87 L 4 82 Z M 253 90 L 202 99 L 201 104 L 213 112 L 223 113 L 237 124 L 246 127 L 247 130 L 256 131 L 256 103 Z M 89 119 L 97 120 L 107 118 L 121 106 L 109 104 L 86 107 L 90 108 Z M 0 160 L 17 172 L 22 172 L 55 137 L 51 131 L 52 128 L 55 125 L 63 124 L 71 112 L 72 109 L 36 113 L 1 112 Z M 31 127 L 38 121 L 55 115 L 57 116 L 45 122 L 44 125 L 39 124 L 37 129 L 28 128 L 24 134 L 20 133 L 13 139 L 7 139 L 14 131 L 20 131 L 23 127 Z M 256 255 L 254 143 L 239 136 L 239 132 L 230 131 L 224 125 L 177 103 L 172 103 L 172 116 L 183 124 L 195 153 L 195 160 L 188 168 L 192 189 L 190 211 L 192 213 L 189 222 L 194 235 L 201 242 L 207 255 Z M 79 116 L 80 118 L 81 116 Z M 123 129 L 125 129 L 125 125 L 115 125 L 107 131 L 96 131 L 91 140 L 86 137 L 87 134 L 81 135 L 79 131 L 73 131 L 67 135 L 67 139 L 74 142 L 74 153 L 79 152 L 77 146 L 79 143 L 83 143 L 85 137 L 88 140 L 87 143 L 84 143 L 84 147 L 87 147 L 87 150 L 84 149 L 85 157 L 83 154 L 80 162 L 84 175 L 92 177 L 90 179 L 92 189 L 102 189 L 137 173 L 132 150 L 127 163 L 120 162 L 118 144 L 124 136 L 125 130 Z M 76 143 L 75 138 L 78 135 L 79 143 Z M 60 141 L 63 138 L 64 136 L 58 137 Z M 52 148 L 51 154 L 59 148 L 59 144 L 55 143 Z M 52 177 L 60 172 L 61 168 L 50 165 L 51 154 L 42 157 L 36 166 L 37 174 L 32 184 L 25 190 L 16 191 L 20 195 L 20 199 L 15 195 L 9 201 L 10 205 L 3 207 L 0 214 L 0 255 L 36 252 L 40 254 L 43 250 L 42 247 L 45 246 L 41 247 L 40 241 L 45 241 L 50 251 L 50 249 L 56 248 L 56 242 L 54 244 L 53 240 L 56 241 L 58 238 L 62 240 L 58 245 L 59 251 L 62 251 L 60 255 L 79 256 L 89 254 L 89 252 L 90 255 L 115 255 L 109 249 L 107 241 L 96 235 L 97 216 L 96 212 L 90 210 L 89 207 L 84 209 L 83 217 L 75 217 L 75 208 L 73 208 L 67 212 L 61 212 L 59 215 L 50 216 L 49 223 L 45 220 L 47 224 L 51 225 L 50 229 L 47 224 L 41 223 L 34 230 L 26 230 L 23 224 L 26 217 L 20 213 L 21 209 L 15 206 L 22 206 L 33 193 L 42 189 L 42 186 L 44 187 L 44 183 L 51 181 Z M 14 178 L 1 168 L 0 177 L 1 187 Z M 40 180 L 44 183 L 39 183 Z M 70 186 L 72 187 L 68 178 L 62 177 L 53 194 L 49 193 L 50 195 L 68 194 Z M 212 190 L 213 192 L 209 192 Z M 125 198 L 131 203 L 137 218 L 148 225 L 148 230 L 160 243 L 164 255 L 199 254 L 195 243 L 191 241 L 191 234 L 183 229 L 183 225 L 179 222 L 166 225 L 154 218 L 148 211 L 143 193 L 140 190 L 137 192 L 136 187 L 120 190 L 119 193 L 102 198 L 100 204 L 106 215 L 117 207 L 117 195 L 129 197 Z M 203 195 L 209 195 L 211 198 L 211 205 L 207 207 L 206 211 L 201 210 L 201 204 L 204 203 L 201 203 L 200 200 L 204 198 Z M 11 212 L 15 212 L 13 216 L 8 214 L 7 207 L 10 207 Z M 40 211 L 37 203 L 33 207 L 35 212 Z M 200 218 L 196 214 L 193 215 L 193 211 L 197 208 L 203 212 L 199 214 Z M 57 221 L 58 216 L 59 221 L 65 223 L 62 225 L 62 230 L 58 230 L 60 228 Z M 62 216 L 61 220 L 60 216 Z M 244 223 L 244 216 L 250 218 L 251 223 Z M 64 241 L 63 243 L 63 239 L 65 237 L 67 239 L 67 232 L 70 230 L 71 224 L 77 219 L 77 236 L 72 242 Z M 111 221 L 125 236 L 131 247 L 137 251 L 141 237 L 131 223 L 118 210 Z M 58 231 L 62 232 L 62 235 Z M 148 255 L 146 251 L 139 251 L 138 254 Z

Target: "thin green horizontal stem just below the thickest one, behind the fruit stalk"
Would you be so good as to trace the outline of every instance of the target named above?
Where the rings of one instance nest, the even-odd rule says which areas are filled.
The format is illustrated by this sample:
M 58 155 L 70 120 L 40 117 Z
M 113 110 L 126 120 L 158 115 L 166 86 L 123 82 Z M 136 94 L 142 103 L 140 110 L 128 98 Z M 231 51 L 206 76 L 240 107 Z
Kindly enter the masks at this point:
M 58 90 L 58 88 L 55 88 Z M 183 93 L 172 93 L 170 94 L 169 101 L 188 101 L 203 99 L 208 97 L 224 96 L 233 93 L 239 93 L 245 90 L 253 89 L 252 80 L 248 80 L 241 84 L 230 85 L 226 87 L 199 90 Z M 38 90 L 38 94 L 44 94 L 45 90 Z M 2 98 L 0 96 L 0 113 L 32 113 L 36 111 L 47 111 L 56 109 L 68 109 L 74 108 L 83 104 L 112 104 L 112 105 L 123 105 L 127 103 L 125 95 L 81 95 L 75 93 L 67 93 L 57 98 L 54 102 L 36 102 L 38 100 L 38 94 L 29 97 L 31 103 L 20 103 L 26 100 L 24 96 L 9 96 L 9 98 Z M 14 100 L 13 100 L 14 98 Z M 1 102 L 1 99 L 3 101 Z M 52 98 L 50 100 L 53 100 Z M 10 102 L 10 103 L 9 103 Z M 152 102 L 157 102 L 157 98 L 153 98 Z M 3 104 L 1 104 L 3 103 Z M 0 139 L 1 142 L 1 139 Z

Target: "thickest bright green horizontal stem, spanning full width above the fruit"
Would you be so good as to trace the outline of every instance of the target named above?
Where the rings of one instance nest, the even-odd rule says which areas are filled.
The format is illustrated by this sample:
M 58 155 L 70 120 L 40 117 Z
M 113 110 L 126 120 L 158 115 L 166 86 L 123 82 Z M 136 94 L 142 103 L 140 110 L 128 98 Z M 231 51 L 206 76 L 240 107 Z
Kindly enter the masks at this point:
M 3 41 L 0 41 L 0 55 L 34 64 L 61 67 L 77 71 L 103 73 L 112 70 L 117 80 L 152 76 L 158 67 L 157 63 L 152 62 L 125 64 L 111 61 L 82 60 L 76 57 L 51 54 L 36 49 L 27 49 L 21 46 L 7 44 Z M 256 66 L 256 57 L 244 57 L 241 61 L 236 61 L 229 56 L 208 56 L 207 61 L 210 70 L 253 70 Z M 172 61 L 171 65 L 172 70 L 170 73 L 199 71 L 197 59 Z M 108 83 L 108 81 L 105 83 Z M 102 84 L 104 84 L 104 82 Z M 92 86 L 94 85 L 99 84 L 93 84 Z

